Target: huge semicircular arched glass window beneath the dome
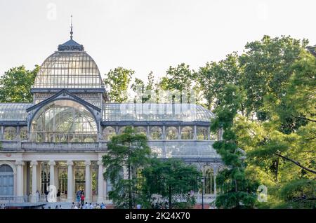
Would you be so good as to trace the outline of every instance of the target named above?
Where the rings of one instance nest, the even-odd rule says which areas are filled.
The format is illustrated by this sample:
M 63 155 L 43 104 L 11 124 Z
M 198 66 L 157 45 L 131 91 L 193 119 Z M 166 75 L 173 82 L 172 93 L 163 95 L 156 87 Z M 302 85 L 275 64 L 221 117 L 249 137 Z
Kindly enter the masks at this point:
M 32 142 L 96 142 L 97 137 L 93 114 L 72 100 L 44 105 L 32 121 Z

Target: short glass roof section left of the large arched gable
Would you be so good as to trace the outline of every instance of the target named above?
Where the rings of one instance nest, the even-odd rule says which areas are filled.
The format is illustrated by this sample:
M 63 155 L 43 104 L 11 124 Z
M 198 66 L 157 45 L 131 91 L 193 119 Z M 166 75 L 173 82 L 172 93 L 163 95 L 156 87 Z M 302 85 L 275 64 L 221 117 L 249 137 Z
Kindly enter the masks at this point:
M 0 121 L 26 121 L 32 103 L 0 103 Z

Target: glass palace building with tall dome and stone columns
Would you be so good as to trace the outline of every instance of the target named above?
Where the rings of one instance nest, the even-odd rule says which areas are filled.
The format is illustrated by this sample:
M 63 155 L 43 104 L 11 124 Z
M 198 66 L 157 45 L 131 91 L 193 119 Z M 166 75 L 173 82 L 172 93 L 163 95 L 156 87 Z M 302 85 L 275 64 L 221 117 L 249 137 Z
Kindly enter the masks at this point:
M 147 135 L 160 158 L 182 158 L 205 176 L 204 193 L 216 196 L 222 168 L 212 144 L 213 114 L 197 104 L 110 103 L 100 71 L 72 38 L 41 65 L 33 103 L 0 103 L 0 203 L 38 202 L 49 185 L 60 200 L 110 202 L 101 158 L 107 142 L 126 126 Z

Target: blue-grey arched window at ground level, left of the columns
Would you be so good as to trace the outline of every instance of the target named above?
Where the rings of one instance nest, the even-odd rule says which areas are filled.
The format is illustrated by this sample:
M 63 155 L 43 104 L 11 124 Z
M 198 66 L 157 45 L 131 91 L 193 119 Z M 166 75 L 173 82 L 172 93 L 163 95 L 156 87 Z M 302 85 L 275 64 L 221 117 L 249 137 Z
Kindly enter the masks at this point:
M 10 165 L 0 165 L 0 196 L 13 196 L 13 169 Z

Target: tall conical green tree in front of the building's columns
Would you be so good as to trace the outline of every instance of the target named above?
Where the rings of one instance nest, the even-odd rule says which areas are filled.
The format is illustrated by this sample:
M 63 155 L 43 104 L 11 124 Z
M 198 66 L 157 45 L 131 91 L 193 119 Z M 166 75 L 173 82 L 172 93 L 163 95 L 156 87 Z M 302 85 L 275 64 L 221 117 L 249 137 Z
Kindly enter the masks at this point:
M 112 183 L 109 196 L 117 208 L 132 209 L 140 194 L 138 185 L 141 177 L 138 173 L 147 165 L 150 155 L 147 137 L 128 126 L 123 134 L 111 138 L 107 151 L 103 156 L 103 165 L 106 168 L 104 177 Z M 124 179 L 124 168 L 127 179 Z

